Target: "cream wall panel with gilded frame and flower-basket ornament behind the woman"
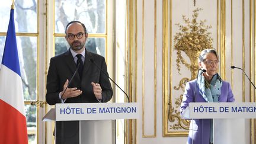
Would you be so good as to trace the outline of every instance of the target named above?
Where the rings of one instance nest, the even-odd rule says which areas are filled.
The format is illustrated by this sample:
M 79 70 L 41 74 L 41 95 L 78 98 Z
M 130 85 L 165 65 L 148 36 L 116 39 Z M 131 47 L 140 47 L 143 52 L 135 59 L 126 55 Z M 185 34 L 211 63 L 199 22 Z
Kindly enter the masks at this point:
M 204 5 L 211 5 L 211 7 Z M 168 1 L 168 13 L 164 18 L 169 21 L 166 31 L 168 44 L 163 46 L 168 56 L 163 62 L 168 63 L 168 72 L 163 81 L 163 87 L 168 92 L 164 98 L 164 136 L 187 136 L 190 121 L 181 119 L 180 104 L 183 98 L 185 84 L 196 79 L 197 57 L 203 49 L 212 49 L 217 44 L 217 1 Z M 211 12 L 209 12 L 211 11 Z M 164 37 L 164 36 L 163 36 Z M 165 71 L 165 66 L 163 66 Z

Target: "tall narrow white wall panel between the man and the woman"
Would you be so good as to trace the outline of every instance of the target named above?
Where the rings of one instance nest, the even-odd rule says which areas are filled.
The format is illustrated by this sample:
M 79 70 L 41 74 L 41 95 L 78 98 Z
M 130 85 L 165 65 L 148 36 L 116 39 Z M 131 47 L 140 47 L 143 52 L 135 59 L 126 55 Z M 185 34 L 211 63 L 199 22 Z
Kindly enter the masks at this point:
M 155 135 L 155 1 L 145 1 L 145 31 L 144 31 L 144 135 L 152 136 Z

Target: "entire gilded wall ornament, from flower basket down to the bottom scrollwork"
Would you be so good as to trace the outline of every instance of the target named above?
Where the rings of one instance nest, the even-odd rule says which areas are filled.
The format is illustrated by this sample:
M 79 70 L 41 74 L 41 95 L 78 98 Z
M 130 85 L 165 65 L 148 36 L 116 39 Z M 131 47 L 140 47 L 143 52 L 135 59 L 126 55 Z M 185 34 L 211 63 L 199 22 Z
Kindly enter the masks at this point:
M 179 85 L 174 87 L 177 91 L 181 89 L 184 92 L 185 83 L 196 79 L 197 70 L 199 68 L 197 59 L 201 50 L 213 49 L 213 39 L 210 37 L 211 33 L 207 31 L 212 28 L 212 26 L 206 25 L 206 20 L 197 20 L 199 11 L 201 10 L 203 9 L 197 8 L 193 11 L 191 21 L 183 15 L 182 17 L 185 25 L 181 25 L 180 23 L 175 24 L 178 26 L 178 30 L 180 30 L 180 32 L 177 32 L 174 35 L 174 50 L 177 51 L 177 70 L 178 73 L 181 74 L 181 65 L 185 65 L 191 72 L 191 78 L 181 78 Z M 181 55 L 182 52 L 184 52 L 190 59 L 190 63 L 188 63 Z M 188 130 L 190 121 L 181 119 L 180 117 L 179 109 L 182 97 L 183 94 L 175 98 L 175 106 L 169 101 L 168 120 L 171 122 L 168 126 L 169 129 Z

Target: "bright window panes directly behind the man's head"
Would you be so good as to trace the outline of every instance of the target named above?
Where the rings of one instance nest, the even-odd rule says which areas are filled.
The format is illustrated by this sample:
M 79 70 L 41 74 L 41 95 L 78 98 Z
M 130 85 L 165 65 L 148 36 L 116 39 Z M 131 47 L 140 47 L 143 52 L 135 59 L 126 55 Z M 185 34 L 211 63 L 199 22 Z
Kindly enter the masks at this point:
M 55 55 L 66 52 L 65 27 L 70 21 L 81 21 L 87 27 L 89 38 L 85 47 L 89 52 L 105 57 L 106 1 L 56 0 L 55 1 Z

